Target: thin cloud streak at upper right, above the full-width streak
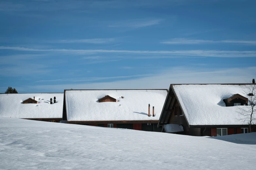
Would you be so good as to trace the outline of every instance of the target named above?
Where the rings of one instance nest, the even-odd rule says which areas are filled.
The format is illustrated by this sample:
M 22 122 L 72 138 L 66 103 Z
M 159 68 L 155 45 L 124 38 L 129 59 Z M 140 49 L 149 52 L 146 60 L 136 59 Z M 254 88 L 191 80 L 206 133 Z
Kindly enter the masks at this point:
M 256 45 L 256 41 L 245 40 L 202 40 L 202 39 L 186 39 L 186 38 L 173 38 L 168 41 L 161 42 L 162 44 L 207 44 L 207 43 L 237 43 L 237 44 L 249 44 Z

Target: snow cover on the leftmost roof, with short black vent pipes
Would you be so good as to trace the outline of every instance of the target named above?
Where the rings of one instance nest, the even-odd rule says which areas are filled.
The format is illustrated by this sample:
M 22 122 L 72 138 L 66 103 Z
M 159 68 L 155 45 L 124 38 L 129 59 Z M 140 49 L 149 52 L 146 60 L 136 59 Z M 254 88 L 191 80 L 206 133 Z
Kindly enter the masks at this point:
M 23 104 L 33 98 L 38 104 Z M 50 104 L 56 97 L 57 103 Z M 41 100 L 39 100 L 39 98 Z M 12 118 L 62 118 L 63 93 L 18 93 L 0 94 L 0 117 Z

